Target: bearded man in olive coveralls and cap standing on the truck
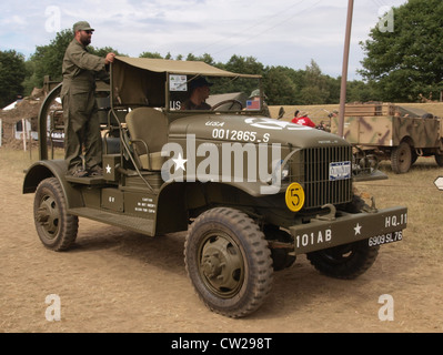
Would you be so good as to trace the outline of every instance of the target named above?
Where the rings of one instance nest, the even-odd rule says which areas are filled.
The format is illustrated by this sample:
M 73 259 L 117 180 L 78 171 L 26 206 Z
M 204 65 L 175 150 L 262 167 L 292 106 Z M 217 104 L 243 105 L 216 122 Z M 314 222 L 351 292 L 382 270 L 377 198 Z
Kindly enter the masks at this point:
M 88 52 L 93 29 L 85 21 L 73 26 L 74 38 L 64 53 L 61 100 L 64 119 L 64 160 L 68 175 L 74 178 L 102 175 L 102 142 L 95 102 L 95 79 L 109 83 L 107 65 L 114 53 L 105 58 Z M 84 146 L 84 168 L 81 159 Z

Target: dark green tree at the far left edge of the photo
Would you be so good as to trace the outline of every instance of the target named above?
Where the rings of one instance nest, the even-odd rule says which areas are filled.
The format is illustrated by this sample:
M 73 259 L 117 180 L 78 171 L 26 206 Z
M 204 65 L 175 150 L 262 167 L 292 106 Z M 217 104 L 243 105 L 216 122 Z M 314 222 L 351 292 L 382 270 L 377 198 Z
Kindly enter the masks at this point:
M 24 58 L 14 50 L 0 51 L 0 109 L 23 94 Z

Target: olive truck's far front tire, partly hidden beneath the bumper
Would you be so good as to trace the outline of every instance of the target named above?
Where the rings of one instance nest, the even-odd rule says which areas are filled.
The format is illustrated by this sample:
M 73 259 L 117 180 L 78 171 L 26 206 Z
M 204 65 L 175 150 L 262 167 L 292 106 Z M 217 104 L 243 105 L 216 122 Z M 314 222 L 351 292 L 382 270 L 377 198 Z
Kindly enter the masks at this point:
M 374 263 L 380 246 L 369 246 L 368 240 L 308 253 L 311 264 L 322 274 L 352 280 L 366 272 Z

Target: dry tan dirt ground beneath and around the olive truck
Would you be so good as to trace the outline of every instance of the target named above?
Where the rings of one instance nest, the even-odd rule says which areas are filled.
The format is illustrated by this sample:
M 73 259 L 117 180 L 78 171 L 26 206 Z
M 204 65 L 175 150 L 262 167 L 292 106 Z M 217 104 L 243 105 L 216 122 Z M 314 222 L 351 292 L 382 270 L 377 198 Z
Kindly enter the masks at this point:
M 75 246 L 51 252 L 37 236 L 33 194 L 21 193 L 22 180 L 21 171 L 0 164 L 0 332 L 443 331 L 441 260 L 409 248 L 409 230 L 403 242 L 382 246 L 355 281 L 323 276 L 299 256 L 275 273 L 272 294 L 258 312 L 231 320 L 211 313 L 194 294 L 183 233 L 150 239 L 80 219 Z M 49 322 L 46 298 L 53 294 L 61 320 Z M 385 294 L 394 302 L 393 321 L 379 318 Z

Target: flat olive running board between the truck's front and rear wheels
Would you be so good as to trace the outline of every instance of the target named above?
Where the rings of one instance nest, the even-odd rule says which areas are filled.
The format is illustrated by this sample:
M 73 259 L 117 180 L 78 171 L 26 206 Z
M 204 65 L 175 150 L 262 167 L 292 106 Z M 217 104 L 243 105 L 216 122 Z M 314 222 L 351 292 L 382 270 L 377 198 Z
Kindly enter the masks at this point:
M 68 213 L 97 222 L 112 224 L 123 230 L 133 231 L 149 236 L 154 236 L 155 234 L 153 220 L 140 219 L 91 207 L 69 209 Z

